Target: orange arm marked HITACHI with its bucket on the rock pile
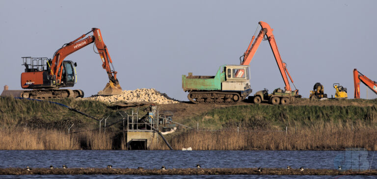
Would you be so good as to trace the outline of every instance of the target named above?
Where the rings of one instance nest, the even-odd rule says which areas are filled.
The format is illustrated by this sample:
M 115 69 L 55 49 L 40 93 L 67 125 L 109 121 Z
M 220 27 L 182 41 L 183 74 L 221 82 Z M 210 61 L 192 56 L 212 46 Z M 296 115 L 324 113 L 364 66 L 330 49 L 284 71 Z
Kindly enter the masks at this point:
M 90 32 L 93 32 L 93 35 L 84 38 Z M 54 82 L 59 84 L 62 78 L 62 70 L 60 69 L 62 69 L 62 63 L 63 63 L 64 58 L 93 42 L 95 43 L 98 53 L 100 54 L 100 57 L 103 63 L 102 67 L 106 70 L 108 74 L 108 78 L 109 78 L 109 83 L 104 88 L 103 94 L 104 95 L 120 94 L 122 92 L 122 88 L 120 87 L 119 81 L 116 78 L 117 72 L 115 70 L 111 70 L 110 68 L 110 64 L 111 64 L 112 69 L 114 69 L 112 65 L 112 60 L 108 53 L 108 48 L 106 47 L 103 41 L 101 30 L 99 28 L 92 28 L 92 30 L 89 31 L 88 33 L 81 35 L 79 38 L 77 38 L 76 40 L 72 42 L 64 44 L 62 48 L 58 49 L 54 53 L 54 57 L 51 64 L 50 75 L 53 77 Z

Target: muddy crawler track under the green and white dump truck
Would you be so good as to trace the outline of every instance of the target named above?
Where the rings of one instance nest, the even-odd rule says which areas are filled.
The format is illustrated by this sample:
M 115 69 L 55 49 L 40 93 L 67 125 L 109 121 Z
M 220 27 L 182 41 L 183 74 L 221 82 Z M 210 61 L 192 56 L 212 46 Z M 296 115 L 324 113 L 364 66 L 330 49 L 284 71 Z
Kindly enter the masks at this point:
M 191 91 L 187 98 L 195 104 L 235 104 L 245 97 L 237 92 Z

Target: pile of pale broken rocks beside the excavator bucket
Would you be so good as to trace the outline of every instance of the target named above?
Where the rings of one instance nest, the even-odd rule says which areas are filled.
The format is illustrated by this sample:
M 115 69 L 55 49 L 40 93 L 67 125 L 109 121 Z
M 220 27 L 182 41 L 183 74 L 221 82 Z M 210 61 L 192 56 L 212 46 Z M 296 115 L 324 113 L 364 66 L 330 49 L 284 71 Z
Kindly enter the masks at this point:
M 89 100 L 98 100 L 102 102 L 153 102 L 157 104 L 170 104 L 170 103 L 178 103 L 168 97 L 164 93 L 160 93 L 159 91 L 147 88 L 141 88 L 136 90 L 124 90 L 120 95 L 112 95 L 112 96 L 103 96 L 101 92 L 98 92 L 97 95 L 89 97 Z

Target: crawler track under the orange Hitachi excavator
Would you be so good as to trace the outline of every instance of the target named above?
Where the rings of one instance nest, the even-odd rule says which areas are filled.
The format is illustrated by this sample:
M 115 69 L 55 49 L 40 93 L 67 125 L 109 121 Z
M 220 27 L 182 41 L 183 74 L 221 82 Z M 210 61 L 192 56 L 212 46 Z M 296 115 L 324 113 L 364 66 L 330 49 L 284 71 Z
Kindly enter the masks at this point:
M 20 91 L 19 97 L 31 99 L 82 98 L 82 90 L 71 89 L 36 89 Z M 18 95 L 17 95 L 18 96 Z M 16 96 L 15 96 L 16 97 Z

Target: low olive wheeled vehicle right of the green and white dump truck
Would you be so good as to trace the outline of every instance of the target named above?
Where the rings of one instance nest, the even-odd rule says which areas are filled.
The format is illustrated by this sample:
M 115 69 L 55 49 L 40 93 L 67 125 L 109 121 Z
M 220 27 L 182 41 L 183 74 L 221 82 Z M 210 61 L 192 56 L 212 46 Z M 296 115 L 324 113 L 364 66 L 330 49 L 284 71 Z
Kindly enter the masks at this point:
M 253 97 L 249 97 L 248 100 L 256 104 L 261 102 L 268 102 L 271 104 L 289 104 L 295 102 L 296 93 L 293 91 L 282 90 L 276 88 L 271 94 L 268 89 L 264 89 L 255 93 Z

